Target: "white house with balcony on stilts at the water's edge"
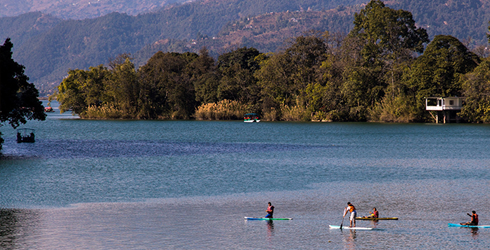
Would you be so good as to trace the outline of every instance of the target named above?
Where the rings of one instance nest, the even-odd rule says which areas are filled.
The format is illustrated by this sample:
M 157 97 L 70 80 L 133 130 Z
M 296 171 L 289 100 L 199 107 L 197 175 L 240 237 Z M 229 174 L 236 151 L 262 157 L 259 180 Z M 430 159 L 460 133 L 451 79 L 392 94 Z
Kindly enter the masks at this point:
M 440 117 L 443 123 L 459 122 L 457 114 L 463 108 L 463 100 L 464 97 L 426 97 L 425 110 L 429 111 L 436 123 L 439 123 Z

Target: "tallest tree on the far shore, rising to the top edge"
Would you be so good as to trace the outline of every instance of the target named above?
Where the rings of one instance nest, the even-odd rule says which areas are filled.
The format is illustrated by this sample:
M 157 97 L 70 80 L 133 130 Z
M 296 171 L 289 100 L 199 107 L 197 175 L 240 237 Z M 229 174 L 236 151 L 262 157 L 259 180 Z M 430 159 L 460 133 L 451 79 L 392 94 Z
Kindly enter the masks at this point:
M 344 92 L 349 105 L 358 103 L 359 111 L 372 111 L 384 98 L 391 99 L 383 101 L 385 107 L 388 103 L 402 104 L 394 99 L 404 95 L 402 77 L 414 53 L 422 53 L 429 42 L 426 30 L 416 27 L 412 13 L 372 0 L 354 14 L 354 28 L 349 35 L 362 44 L 361 63 L 349 67 L 346 76 Z

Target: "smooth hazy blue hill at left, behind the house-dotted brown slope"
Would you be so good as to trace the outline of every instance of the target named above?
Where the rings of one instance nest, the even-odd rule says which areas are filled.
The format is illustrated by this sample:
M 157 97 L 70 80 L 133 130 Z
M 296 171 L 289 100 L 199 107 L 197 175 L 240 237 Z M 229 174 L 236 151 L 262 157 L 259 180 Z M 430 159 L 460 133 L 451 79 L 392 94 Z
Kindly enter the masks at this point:
M 330 9 L 340 2 L 356 5 L 367 0 L 206 0 L 137 16 L 111 13 L 94 19 L 65 20 L 27 41 L 12 39 L 14 59 L 26 66 L 26 74 L 46 94 L 68 69 L 107 63 L 111 57 L 136 53 L 162 39 L 213 37 L 227 23 L 240 18 Z

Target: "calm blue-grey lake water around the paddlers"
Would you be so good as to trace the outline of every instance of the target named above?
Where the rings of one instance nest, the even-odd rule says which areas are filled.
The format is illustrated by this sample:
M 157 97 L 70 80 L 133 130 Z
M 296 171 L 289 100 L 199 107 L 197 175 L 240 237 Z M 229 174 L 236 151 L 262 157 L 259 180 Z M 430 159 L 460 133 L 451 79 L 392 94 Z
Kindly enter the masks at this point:
M 0 158 L 0 248 L 488 249 L 490 126 L 29 122 Z M 292 221 L 244 221 L 264 216 Z M 347 201 L 398 221 L 330 230 Z M 348 223 L 347 219 L 344 225 Z

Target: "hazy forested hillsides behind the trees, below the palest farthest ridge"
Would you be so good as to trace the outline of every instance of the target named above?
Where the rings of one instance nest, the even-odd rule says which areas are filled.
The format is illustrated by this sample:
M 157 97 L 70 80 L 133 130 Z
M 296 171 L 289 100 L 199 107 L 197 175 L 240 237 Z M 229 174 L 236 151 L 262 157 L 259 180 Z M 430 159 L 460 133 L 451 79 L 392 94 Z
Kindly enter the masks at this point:
M 100 0 L 103 1 L 106 0 Z M 274 52 L 288 38 L 308 30 L 347 33 L 353 27 L 354 12 L 367 2 L 201 0 L 165 6 L 137 16 L 111 13 L 83 20 L 62 20 L 36 12 L 0 18 L 0 39 L 3 42 L 6 37 L 12 38 L 14 59 L 26 66 L 26 75 L 46 95 L 68 69 L 88 69 L 122 53 L 131 53 L 135 63 L 142 65 L 159 50 L 197 52 L 206 46 L 217 56 L 247 46 Z M 487 44 L 489 2 L 392 0 L 385 3 L 412 12 L 417 25 L 426 28 L 431 38 L 448 34 L 474 46 Z

